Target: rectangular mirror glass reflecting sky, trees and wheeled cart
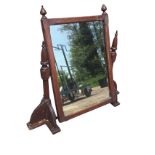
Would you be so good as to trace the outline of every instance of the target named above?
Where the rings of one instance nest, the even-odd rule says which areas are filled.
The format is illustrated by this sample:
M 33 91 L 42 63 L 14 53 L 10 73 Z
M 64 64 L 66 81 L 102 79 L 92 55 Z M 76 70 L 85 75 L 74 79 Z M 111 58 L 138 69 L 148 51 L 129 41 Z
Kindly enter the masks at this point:
M 101 21 L 50 26 L 65 116 L 110 99 L 103 29 Z

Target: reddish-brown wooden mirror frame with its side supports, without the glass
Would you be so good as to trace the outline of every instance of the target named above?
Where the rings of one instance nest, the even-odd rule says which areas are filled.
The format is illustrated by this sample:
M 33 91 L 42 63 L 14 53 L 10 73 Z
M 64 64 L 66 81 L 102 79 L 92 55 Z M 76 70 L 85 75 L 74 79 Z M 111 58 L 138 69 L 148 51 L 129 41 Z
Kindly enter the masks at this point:
M 103 105 L 106 105 L 108 103 L 111 103 L 113 106 L 119 105 L 119 102 L 117 101 L 117 95 L 118 95 L 117 84 L 113 79 L 113 64 L 116 59 L 116 50 L 117 50 L 117 31 L 113 39 L 112 46 L 110 47 L 109 20 L 108 20 L 108 14 L 106 13 L 106 10 L 107 10 L 106 6 L 102 5 L 101 10 L 102 10 L 102 14 L 97 16 L 49 19 L 45 16 L 46 10 L 42 6 L 40 14 L 42 15 L 41 26 L 42 26 L 44 41 L 42 43 L 42 52 L 41 52 L 41 65 L 42 65 L 41 77 L 43 79 L 44 96 L 39 106 L 33 111 L 30 118 L 30 122 L 27 123 L 27 126 L 29 129 L 34 129 L 38 126 L 46 124 L 48 128 L 51 130 L 51 132 L 55 134 L 60 131 L 60 128 L 56 123 L 56 119 L 58 119 L 59 122 L 64 122 L 71 118 L 79 116 L 83 113 L 99 108 Z M 59 85 L 58 85 L 58 79 L 57 79 L 57 73 L 56 73 L 56 67 L 55 67 L 55 58 L 54 58 L 52 40 L 50 35 L 50 26 L 57 25 L 57 24 L 92 22 L 92 21 L 102 21 L 104 23 L 103 31 L 104 31 L 104 39 L 105 39 L 105 52 L 106 52 L 106 58 L 107 58 L 108 86 L 109 86 L 110 99 L 107 99 L 106 101 L 100 104 L 95 104 L 94 106 L 84 109 L 75 114 L 65 116 L 63 112 L 62 100 L 59 92 Z M 52 81 L 57 116 L 53 110 L 53 107 L 50 101 L 49 83 L 48 83 L 49 77 L 51 77 L 51 81 Z

